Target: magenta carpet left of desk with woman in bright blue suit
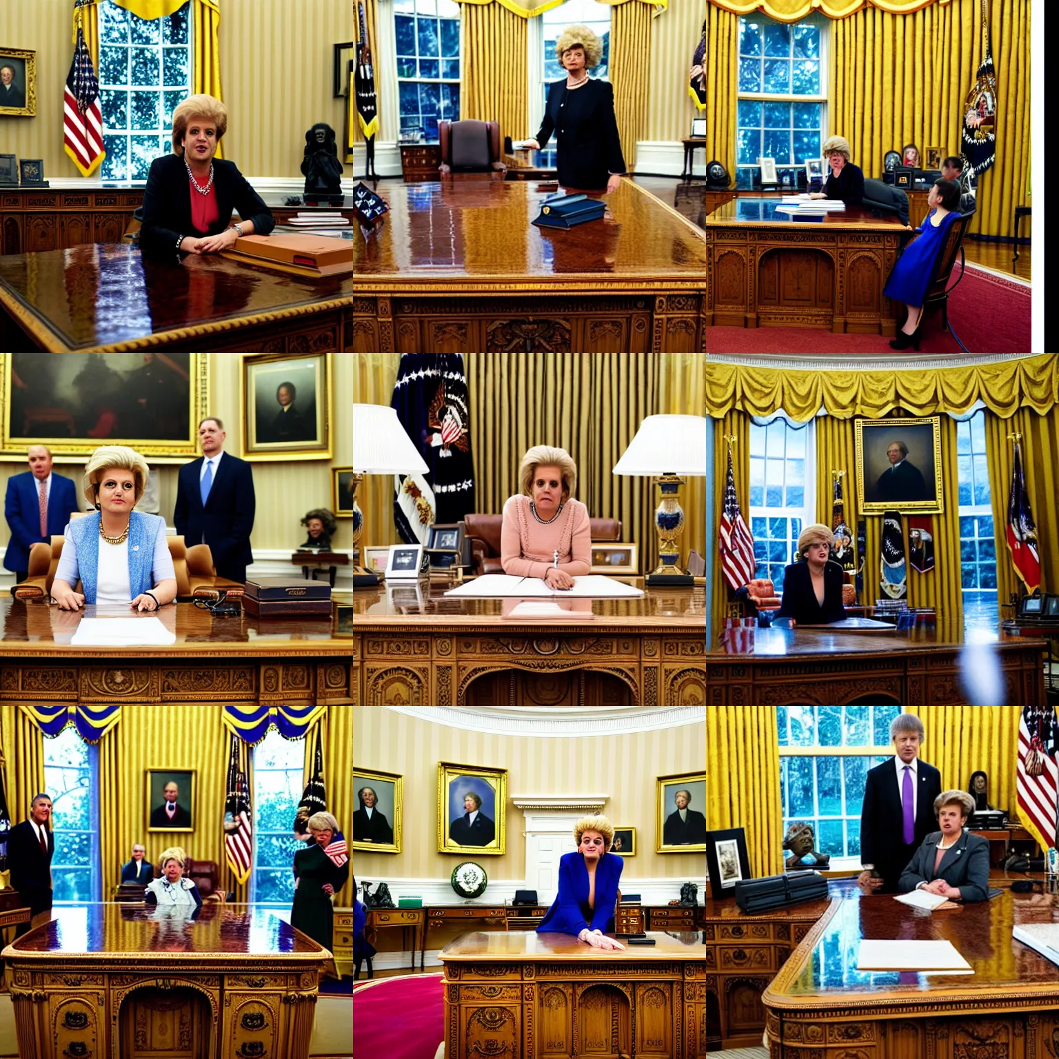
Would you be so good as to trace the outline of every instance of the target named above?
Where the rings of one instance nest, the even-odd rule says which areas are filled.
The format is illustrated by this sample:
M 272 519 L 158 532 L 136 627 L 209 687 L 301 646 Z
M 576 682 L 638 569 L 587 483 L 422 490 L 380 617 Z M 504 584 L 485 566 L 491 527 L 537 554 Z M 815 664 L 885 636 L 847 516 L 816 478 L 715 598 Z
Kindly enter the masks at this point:
M 358 982 L 353 988 L 353 1054 L 434 1059 L 445 1036 L 441 974 Z

